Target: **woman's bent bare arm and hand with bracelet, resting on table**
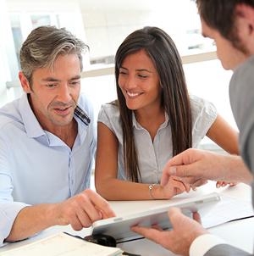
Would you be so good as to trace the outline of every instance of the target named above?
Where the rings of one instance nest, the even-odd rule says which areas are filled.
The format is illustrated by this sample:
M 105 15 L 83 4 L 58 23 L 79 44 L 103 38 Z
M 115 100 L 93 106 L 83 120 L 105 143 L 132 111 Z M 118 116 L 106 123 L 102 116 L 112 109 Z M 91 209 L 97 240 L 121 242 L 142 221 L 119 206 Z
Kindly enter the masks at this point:
M 97 192 L 107 200 L 168 199 L 180 192 L 190 191 L 183 180 L 173 177 L 167 186 L 118 180 L 119 142 L 107 125 L 98 122 L 95 183 Z

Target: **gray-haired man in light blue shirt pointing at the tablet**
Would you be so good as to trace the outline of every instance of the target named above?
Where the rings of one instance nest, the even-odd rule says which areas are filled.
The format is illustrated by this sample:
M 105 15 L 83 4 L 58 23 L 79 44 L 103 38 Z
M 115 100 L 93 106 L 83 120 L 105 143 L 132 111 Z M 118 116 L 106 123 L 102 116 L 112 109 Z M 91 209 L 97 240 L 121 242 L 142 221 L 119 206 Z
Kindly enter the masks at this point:
M 69 31 L 41 26 L 20 50 L 25 94 L 0 109 L 0 244 L 52 225 L 75 230 L 113 217 L 91 191 L 96 137 L 80 96 L 86 44 Z

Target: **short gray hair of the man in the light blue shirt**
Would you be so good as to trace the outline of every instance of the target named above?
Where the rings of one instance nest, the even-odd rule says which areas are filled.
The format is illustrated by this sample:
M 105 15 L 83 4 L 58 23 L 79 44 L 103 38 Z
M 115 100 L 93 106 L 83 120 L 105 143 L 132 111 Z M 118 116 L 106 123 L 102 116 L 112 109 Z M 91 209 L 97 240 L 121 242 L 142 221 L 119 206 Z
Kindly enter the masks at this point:
M 19 60 L 21 71 L 32 83 L 32 73 L 38 68 L 52 68 L 58 55 L 77 54 L 80 59 L 80 70 L 83 69 L 82 53 L 88 46 L 64 28 L 40 26 L 30 32 L 23 43 Z

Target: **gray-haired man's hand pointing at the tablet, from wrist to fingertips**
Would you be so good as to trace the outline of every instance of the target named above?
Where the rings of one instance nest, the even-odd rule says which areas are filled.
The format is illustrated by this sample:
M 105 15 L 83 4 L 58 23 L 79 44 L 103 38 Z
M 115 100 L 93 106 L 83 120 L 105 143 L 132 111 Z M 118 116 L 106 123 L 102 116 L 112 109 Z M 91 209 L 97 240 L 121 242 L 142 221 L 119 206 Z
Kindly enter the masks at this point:
M 90 226 L 94 221 L 114 217 L 109 203 L 97 192 L 87 189 L 54 209 L 58 225 L 71 225 L 75 231 Z

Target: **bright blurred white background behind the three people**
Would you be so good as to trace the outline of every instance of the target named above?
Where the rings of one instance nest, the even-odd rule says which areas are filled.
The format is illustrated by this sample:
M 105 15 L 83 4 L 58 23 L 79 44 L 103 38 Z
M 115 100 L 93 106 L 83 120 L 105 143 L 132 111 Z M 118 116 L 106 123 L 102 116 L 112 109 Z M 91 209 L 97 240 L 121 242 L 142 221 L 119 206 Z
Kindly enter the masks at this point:
M 0 106 L 19 97 L 19 49 L 40 25 L 65 27 L 90 47 L 85 55 L 82 89 L 94 105 L 116 98 L 114 54 L 130 32 L 155 25 L 173 38 L 182 57 L 189 91 L 214 103 L 236 128 L 229 106 L 231 71 L 223 70 L 213 41 L 201 35 L 191 0 L 0 0 Z M 201 147 L 220 150 L 208 139 Z

